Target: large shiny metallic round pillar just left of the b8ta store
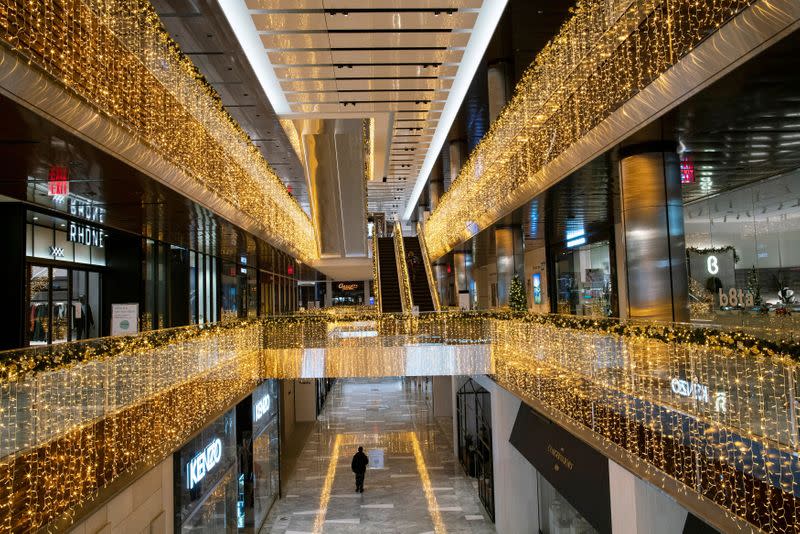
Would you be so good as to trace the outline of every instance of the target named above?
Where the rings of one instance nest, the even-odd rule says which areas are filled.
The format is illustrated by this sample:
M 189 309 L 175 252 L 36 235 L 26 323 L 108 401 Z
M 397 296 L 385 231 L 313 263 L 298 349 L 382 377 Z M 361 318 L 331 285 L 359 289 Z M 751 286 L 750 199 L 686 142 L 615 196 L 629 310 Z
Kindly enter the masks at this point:
M 620 150 L 627 306 L 631 319 L 689 320 L 680 160 L 676 143 Z M 621 313 L 621 315 L 623 315 Z

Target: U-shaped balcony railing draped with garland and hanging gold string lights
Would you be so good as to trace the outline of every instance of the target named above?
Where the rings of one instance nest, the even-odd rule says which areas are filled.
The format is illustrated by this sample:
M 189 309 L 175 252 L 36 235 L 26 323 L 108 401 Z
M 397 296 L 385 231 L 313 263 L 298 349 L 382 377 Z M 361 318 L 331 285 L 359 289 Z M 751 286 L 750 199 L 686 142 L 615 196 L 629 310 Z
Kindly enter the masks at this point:
M 264 378 L 488 374 L 634 471 L 716 504 L 721 528 L 789 532 L 800 510 L 798 345 L 760 334 L 306 313 L 1 353 L 0 524 L 69 524 Z

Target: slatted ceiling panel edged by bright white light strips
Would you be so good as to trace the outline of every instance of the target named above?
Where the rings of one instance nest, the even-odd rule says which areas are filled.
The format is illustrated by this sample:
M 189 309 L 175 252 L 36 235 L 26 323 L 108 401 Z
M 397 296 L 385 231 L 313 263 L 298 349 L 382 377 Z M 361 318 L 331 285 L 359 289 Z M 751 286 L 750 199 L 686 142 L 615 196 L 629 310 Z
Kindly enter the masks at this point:
M 384 117 L 368 209 L 424 183 L 506 0 L 218 0 L 283 118 Z

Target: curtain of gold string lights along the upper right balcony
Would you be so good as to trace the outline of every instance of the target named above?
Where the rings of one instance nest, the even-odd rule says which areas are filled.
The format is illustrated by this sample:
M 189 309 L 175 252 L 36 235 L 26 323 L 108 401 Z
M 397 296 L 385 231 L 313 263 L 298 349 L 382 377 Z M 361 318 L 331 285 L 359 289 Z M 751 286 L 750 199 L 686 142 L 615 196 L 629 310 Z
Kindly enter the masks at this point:
M 542 168 L 754 2 L 578 2 L 427 220 L 431 260 L 541 192 Z

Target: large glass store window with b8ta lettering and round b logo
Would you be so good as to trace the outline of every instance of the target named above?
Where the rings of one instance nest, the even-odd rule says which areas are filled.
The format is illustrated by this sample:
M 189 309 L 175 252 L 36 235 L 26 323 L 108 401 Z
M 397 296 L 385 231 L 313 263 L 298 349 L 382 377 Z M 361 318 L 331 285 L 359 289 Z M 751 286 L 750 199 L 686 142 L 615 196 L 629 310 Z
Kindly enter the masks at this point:
M 800 171 L 684 206 L 690 317 L 800 327 Z

